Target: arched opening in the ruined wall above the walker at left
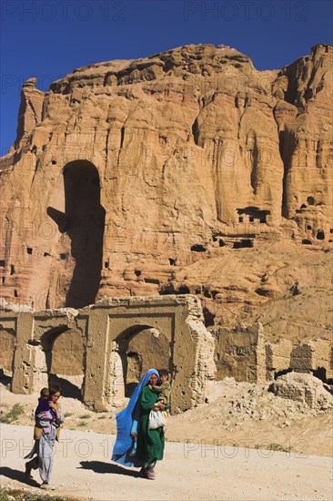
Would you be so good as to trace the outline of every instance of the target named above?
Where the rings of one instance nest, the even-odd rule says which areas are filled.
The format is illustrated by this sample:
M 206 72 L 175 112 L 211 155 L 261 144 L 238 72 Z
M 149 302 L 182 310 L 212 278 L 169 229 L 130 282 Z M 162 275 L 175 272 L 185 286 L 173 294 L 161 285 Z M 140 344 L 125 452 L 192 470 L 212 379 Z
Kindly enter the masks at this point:
M 86 350 L 82 334 L 69 327 L 55 327 L 40 340 L 45 353 L 48 383 L 61 386 L 64 396 L 82 399 Z

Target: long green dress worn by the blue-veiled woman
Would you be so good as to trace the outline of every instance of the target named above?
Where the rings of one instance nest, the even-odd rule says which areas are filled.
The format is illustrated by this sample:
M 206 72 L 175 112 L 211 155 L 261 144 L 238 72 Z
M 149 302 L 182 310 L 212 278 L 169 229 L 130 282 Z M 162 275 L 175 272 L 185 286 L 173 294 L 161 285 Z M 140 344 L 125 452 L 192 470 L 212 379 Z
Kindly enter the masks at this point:
M 163 459 L 164 452 L 164 433 L 163 428 L 149 430 L 149 414 L 156 403 L 157 395 L 147 386 L 141 392 L 140 396 L 140 418 L 137 427 L 137 445 L 136 457 L 144 465 L 156 463 L 156 460 Z

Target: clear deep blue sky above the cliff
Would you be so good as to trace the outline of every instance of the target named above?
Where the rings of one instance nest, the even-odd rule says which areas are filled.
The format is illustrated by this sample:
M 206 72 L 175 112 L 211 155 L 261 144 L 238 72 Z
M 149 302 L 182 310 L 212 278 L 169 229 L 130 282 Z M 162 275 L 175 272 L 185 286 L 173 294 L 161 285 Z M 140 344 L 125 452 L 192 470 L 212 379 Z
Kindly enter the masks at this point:
M 224 44 L 276 69 L 332 44 L 330 0 L 3 0 L 1 136 L 15 140 L 22 84 L 47 90 L 75 67 L 186 44 Z

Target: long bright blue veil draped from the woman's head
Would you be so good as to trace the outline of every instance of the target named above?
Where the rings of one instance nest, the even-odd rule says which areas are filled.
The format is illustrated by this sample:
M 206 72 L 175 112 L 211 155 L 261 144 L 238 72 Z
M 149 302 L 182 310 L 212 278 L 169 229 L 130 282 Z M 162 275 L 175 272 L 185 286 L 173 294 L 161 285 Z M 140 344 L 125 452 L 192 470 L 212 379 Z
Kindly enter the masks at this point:
M 143 388 L 148 383 L 150 376 L 159 374 L 156 369 L 149 369 L 137 384 L 127 407 L 116 414 L 116 444 L 112 453 L 112 461 L 125 466 L 142 466 L 136 456 L 129 455 L 133 447 L 131 433 L 136 433 L 137 424 L 140 417 L 140 395 Z

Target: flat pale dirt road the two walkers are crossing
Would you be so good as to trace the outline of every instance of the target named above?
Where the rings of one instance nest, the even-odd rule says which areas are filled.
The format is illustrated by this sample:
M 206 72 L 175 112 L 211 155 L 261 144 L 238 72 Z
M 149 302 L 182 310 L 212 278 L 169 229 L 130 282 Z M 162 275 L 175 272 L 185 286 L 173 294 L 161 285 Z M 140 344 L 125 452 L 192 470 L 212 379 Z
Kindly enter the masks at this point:
M 26 487 L 23 475 L 31 446 L 31 427 L 1 425 L 1 485 Z M 209 499 L 316 500 L 332 497 L 328 457 L 244 449 L 202 443 L 166 443 L 156 481 L 137 477 L 137 469 L 112 464 L 114 435 L 63 430 L 55 454 L 58 496 L 99 500 Z M 38 473 L 34 478 L 39 481 Z M 37 490 L 32 482 L 30 489 Z

